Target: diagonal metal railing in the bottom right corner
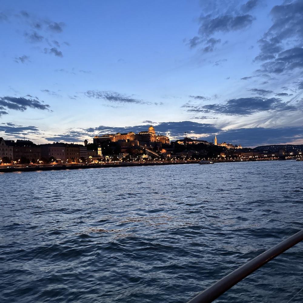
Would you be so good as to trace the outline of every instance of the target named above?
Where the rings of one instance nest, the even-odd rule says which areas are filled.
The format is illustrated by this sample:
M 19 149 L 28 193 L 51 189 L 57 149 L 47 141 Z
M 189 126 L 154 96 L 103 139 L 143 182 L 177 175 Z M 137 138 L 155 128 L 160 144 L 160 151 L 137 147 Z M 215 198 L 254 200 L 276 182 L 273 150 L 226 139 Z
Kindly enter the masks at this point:
M 303 229 L 234 270 L 209 288 L 200 292 L 188 303 L 210 303 L 214 301 L 239 281 L 302 240 Z

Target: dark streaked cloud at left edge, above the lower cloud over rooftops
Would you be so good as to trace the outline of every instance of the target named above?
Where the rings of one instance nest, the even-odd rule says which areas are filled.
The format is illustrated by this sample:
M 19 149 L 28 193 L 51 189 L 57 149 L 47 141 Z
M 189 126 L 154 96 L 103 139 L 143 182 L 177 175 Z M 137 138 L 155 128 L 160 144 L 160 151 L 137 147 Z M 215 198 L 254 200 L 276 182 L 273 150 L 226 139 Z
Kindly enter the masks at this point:
M 49 110 L 50 108 L 48 104 L 43 104 L 43 101 L 31 96 L 28 96 L 28 98 L 3 96 L 0 97 L 0 106 L 21 112 L 24 112 L 27 108 L 37 108 L 41 110 Z

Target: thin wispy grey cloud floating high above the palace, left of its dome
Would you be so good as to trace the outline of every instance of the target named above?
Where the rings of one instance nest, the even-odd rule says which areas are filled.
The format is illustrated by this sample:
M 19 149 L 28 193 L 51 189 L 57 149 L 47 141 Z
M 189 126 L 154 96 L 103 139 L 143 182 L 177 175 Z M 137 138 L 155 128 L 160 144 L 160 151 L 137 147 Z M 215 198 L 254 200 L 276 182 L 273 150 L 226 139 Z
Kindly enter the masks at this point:
M 103 99 L 109 102 L 133 103 L 133 104 L 151 104 L 140 99 L 135 99 L 127 95 L 109 91 L 87 91 L 84 93 L 88 98 Z

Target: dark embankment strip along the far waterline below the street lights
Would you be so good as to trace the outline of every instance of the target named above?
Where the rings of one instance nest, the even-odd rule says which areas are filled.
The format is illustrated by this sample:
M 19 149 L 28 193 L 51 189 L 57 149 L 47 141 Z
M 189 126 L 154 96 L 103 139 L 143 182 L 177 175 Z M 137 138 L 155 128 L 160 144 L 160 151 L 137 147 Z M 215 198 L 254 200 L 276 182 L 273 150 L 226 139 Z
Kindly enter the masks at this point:
M 274 161 L 278 159 L 250 159 L 250 160 L 214 160 L 214 163 L 224 162 L 251 162 L 251 161 Z M 86 168 L 108 168 L 108 167 L 126 167 L 126 166 L 154 166 L 154 165 L 179 165 L 179 164 L 198 164 L 199 161 L 161 161 L 161 162 L 120 162 L 120 163 L 102 163 L 102 164 L 47 164 L 47 165 L 7 165 L 0 167 L 0 173 L 21 172 L 21 171 L 49 171 L 49 170 L 69 170 Z

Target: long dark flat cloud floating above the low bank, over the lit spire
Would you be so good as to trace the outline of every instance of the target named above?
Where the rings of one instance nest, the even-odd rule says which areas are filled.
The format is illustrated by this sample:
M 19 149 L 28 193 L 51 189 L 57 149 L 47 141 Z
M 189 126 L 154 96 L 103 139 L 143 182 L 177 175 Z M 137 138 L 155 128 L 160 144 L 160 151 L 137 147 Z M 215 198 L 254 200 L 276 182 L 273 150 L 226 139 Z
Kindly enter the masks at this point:
M 228 100 L 225 104 L 208 104 L 190 108 L 188 112 L 215 113 L 221 115 L 252 115 L 265 111 L 296 111 L 298 108 L 289 105 L 288 102 L 282 102 L 278 98 L 238 98 Z

